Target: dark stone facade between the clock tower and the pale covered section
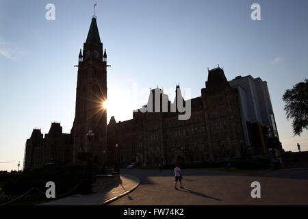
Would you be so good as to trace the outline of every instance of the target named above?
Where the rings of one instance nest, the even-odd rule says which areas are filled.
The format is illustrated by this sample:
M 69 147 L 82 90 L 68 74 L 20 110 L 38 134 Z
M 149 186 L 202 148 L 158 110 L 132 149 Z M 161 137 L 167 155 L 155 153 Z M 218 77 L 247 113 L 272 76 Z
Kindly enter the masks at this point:
M 153 95 L 157 89 L 151 90 Z M 168 112 L 134 112 L 133 119 L 119 123 L 112 117 L 107 127 L 108 162 L 194 163 L 242 157 L 238 92 L 222 68 L 209 70 L 206 88 L 190 101 L 189 120 L 179 120 L 179 113 L 170 112 L 170 107 Z

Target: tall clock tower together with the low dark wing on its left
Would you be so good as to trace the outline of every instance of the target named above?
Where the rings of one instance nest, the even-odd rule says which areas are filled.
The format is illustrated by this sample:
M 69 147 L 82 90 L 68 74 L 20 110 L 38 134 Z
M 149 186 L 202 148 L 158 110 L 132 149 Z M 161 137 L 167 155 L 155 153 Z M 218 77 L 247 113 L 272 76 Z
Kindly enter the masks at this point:
M 72 164 L 91 157 L 102 165 L 107 146 L 107 53 L 92 17 L 83 51 L 79 51 L 75 120 L 70 133 L 52 123 L 48 134 L 34 129 L 25 146 L 24 168 L 44 164 Z M 94 133 L 87 136 L 88 131 Z

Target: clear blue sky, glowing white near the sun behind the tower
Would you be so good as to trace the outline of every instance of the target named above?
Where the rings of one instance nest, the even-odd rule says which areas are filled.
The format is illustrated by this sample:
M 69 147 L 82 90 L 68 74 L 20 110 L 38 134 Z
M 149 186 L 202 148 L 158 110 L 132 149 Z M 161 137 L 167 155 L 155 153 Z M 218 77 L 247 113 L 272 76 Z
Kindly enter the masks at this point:
M 55 20 L 45 18 L 47 3 Z M 285 151 L 308 151 L 308 131 L 294 137 L 281 96 L 308 78 L 308 1 L 103 0 L 0 1 L 0 170 L 23 163 L 32 129 L 48 133 L 61 122 L 68 133 L 75 116 L 79 49 L 86 41 L 93 5 L 107 49 L 109 111 L 132 118 L 149 88 L 191 88 L 201 95 L 207 67 L 227 79 L 252 75 L 268 81 Z M 251 5 L 261 5 L 261 21 Z M 135 92 L 137 90 L 138 92 Z M 134 96 L 138 97 L 136 99 Z

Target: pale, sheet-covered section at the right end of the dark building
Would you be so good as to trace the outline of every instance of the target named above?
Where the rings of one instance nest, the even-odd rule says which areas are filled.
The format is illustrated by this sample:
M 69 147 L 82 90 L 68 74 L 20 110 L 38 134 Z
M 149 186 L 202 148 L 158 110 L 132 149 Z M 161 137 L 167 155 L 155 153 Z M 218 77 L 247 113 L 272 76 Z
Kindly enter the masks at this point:
M 238 90 L 247 149 L 260 154 L 266 153 L 268 145 L 281 148 L 267 82 L 248 75 L 235 77 L 229 83 Z

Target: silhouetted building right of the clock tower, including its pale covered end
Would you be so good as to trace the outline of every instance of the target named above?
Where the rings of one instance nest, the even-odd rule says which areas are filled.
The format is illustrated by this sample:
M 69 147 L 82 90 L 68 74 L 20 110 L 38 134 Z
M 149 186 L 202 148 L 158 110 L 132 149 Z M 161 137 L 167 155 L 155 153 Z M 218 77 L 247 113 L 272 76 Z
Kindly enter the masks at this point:
M 119 123 L 112 116 L 107 126 L 108 162 L 197 163 L 281 149 L 266 81 L 249 75 L 243 77 L 250 80 L 245 87 L 240 78 L 227 81 L 222 68 L 208 70 L 201 96 L 184 101 L 191 104 L 188 120 L 179 120 L 178 111 L 170 112 L 181 94 L 179 86 L 175 101 L 168 100 L 168 112 L 161 105 L 159 112 L 154 110 L 155 94 L 160 103 L 168 96 L 159 88 L 151 90 L 148 105 L 153 101 L 153 112 L 140 109 L 133 119 Z

